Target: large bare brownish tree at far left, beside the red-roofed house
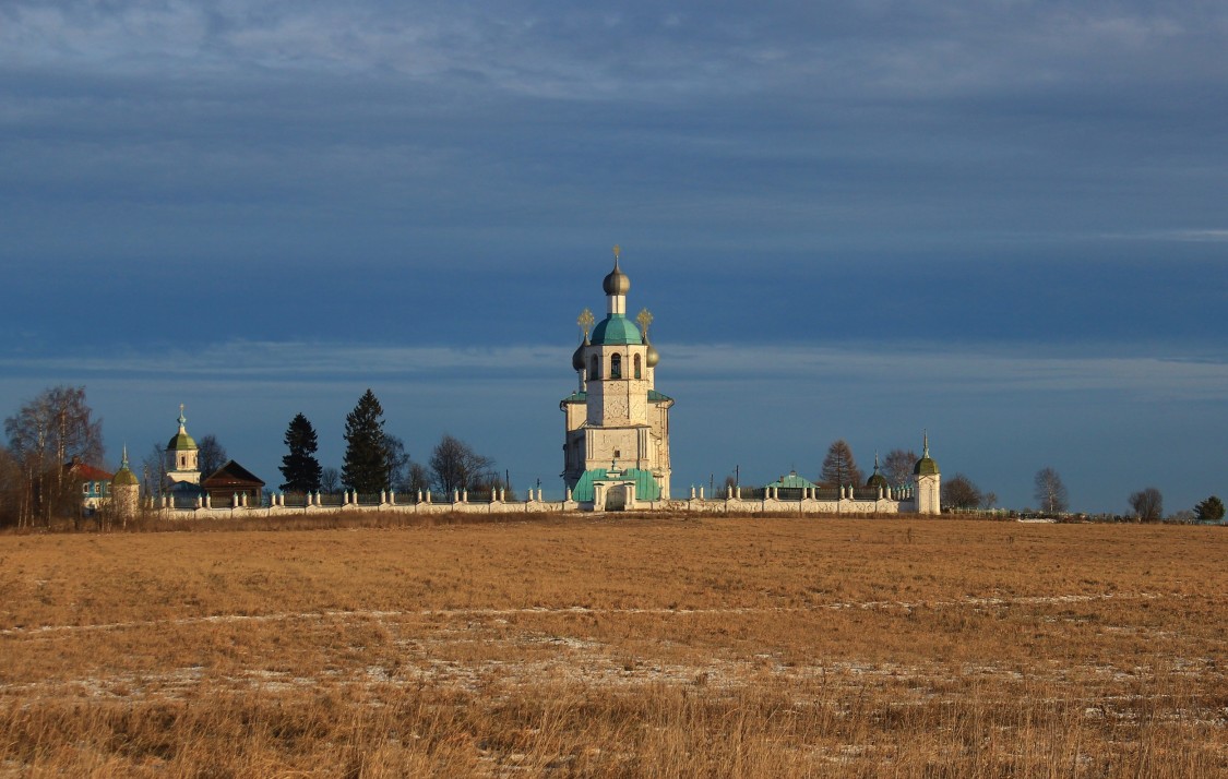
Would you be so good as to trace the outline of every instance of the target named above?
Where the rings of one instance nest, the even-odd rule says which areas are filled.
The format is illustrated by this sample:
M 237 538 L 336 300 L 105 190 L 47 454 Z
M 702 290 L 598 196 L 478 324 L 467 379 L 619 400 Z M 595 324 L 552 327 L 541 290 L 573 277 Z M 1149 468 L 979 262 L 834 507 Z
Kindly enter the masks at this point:
M 50 524 L 53 509 L 70 497 L 64 465 L 74 458 L 88 465 L 102 462 L 102 421 L 92 418 L 84 386 L 53 386 L 5 420 L 4 427 L 25 482 L 18 524 L 32 524 L 36 518 Z

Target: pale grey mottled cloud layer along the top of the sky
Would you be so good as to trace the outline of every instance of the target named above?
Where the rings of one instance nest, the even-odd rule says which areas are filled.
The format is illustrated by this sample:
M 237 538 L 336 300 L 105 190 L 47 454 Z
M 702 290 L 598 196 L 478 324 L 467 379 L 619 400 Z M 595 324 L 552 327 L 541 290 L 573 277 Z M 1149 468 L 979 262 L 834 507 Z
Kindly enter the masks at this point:
M 1089 77 L 1124 83 L 1157 64 L 1175 74 L 1213 55 L 1228 17 L 1216 6 L 975 1 L 631 2 L 618 12 L 559 2 L 18 1 L 0 13 L 0 44 L 25 64 L 393 72 L 655 102 L 798 83 L 906 99 Z

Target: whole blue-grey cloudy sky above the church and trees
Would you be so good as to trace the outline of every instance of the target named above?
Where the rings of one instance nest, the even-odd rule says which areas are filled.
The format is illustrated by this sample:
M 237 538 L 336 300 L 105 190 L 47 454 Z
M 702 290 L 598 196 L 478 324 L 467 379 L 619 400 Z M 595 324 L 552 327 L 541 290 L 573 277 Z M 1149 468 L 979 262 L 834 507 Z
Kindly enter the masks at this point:
M 1084 7 L 1086 6 L 1086 7 Z M 561 496 L 612 247 L 674 492 L 846 439 L 1228 494 L 1228 6 L 0 1 L 0 416 L 340 466 L 371 388 Z

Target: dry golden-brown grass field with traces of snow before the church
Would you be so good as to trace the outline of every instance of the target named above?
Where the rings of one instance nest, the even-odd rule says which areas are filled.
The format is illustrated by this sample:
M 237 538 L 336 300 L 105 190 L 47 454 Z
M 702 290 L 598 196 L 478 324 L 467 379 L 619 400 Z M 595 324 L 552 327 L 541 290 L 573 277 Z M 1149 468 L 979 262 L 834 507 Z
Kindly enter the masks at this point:
M 0 775 L 1228 775 L 1222 528 L 0 536 Z

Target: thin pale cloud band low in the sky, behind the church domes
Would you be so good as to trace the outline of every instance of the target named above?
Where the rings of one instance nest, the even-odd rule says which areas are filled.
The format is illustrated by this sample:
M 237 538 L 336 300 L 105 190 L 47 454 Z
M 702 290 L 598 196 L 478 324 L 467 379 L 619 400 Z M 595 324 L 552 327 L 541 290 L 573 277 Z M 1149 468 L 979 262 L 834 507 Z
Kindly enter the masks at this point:
M 917 394 L 1126 393 L 1172 400 L 1223 400 L 1228 386 L 1228 362 L 1199 355 L 1113 355 L 1073 348 L 1062 353 L 1019 347 L 960 351 L 921 345 L 672 343 L 662 348 L 663 386 L 684 385 L 709 393 L 737 385 L 790 383 L 802 388 L 839 383 L 863 391 L 896 391 L 903 385 Z M 72 375 L 74 383 L 92 377 L 152 375 L 239 384 L 333 384 L 339 377 L 354 377 L 360 383 L 464 383 L 499 377 L 501 383 L 540 382 L 566 388 L 575 380 L 570 362 L 571 348 L 558 346 L 453 348 L 232 341 L 190 353 L 9 357 L 0 359 L 0 366 L 14 374 Z

